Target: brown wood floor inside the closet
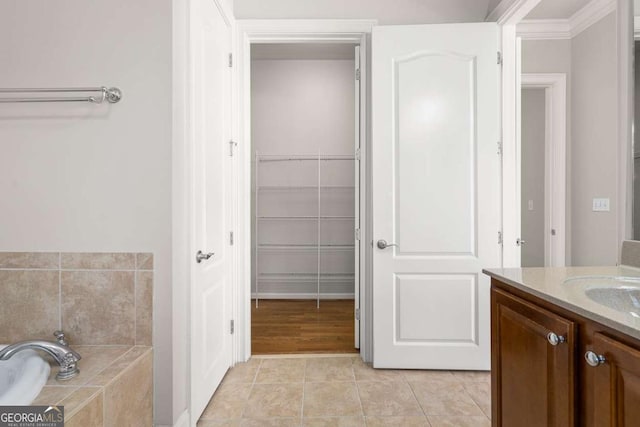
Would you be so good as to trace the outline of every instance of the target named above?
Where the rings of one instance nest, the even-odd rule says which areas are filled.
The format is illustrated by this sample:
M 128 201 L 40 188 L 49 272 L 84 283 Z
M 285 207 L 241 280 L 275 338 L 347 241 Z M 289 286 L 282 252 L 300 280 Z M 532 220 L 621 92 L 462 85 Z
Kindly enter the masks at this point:
M 356 353 L 353 300 L 261 300 L 251 304 L 254 355 Z

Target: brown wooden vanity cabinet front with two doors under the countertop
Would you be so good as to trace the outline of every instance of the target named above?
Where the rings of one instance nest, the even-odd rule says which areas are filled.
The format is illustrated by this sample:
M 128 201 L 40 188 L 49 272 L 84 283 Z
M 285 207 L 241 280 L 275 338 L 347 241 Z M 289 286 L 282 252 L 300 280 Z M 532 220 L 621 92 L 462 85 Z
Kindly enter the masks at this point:
M 640 340 L 492 279 L 493 426 L 640 426 Z

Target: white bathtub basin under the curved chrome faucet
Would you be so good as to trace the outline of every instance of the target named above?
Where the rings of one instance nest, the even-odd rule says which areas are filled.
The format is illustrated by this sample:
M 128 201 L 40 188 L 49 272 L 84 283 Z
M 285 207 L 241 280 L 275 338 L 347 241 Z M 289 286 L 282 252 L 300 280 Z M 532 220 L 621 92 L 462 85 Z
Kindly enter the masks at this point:
M 0 345 L 2 350 L 4 345 Z M 29 405 L 40 394 L 49 377 L 49 364 L 34 350 L 0 360 L 0 406 Z

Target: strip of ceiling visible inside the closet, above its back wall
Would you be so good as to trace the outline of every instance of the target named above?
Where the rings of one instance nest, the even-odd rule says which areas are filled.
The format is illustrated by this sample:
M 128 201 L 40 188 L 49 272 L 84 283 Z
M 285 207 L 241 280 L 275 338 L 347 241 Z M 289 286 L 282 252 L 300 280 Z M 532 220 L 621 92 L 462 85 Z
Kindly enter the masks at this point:
M 353 44 L 345 43 L 273 43 L 252 44 L 251 59 L 350 59 Z

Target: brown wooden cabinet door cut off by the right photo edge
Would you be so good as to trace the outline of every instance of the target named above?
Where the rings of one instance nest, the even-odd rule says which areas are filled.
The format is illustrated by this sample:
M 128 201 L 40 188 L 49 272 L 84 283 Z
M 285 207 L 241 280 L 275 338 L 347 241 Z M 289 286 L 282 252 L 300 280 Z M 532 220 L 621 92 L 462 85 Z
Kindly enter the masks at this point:
M 594 334 L 590 351 L 604 356 L 591 368 L 593 390 L 587 390 L 593 393 L 595 425 L 640 425 L 640 351 L 600 333 Z

